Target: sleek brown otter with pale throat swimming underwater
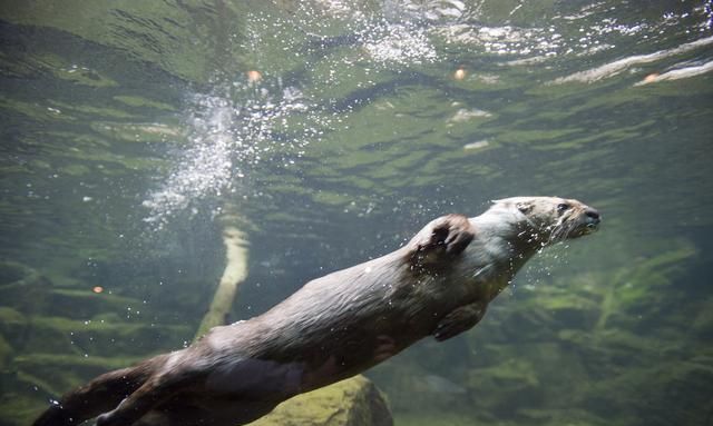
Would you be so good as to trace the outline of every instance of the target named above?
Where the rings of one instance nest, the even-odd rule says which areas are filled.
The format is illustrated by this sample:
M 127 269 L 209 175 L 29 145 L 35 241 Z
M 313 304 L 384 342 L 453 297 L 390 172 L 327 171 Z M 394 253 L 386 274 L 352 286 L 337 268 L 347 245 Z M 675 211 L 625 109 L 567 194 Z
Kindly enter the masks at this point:
M 440 217 L 395 251 L 314 279 L 257 317 L 95 378 L 35 426 L 97 415 L 98 426 L 250 423 L 427 336 L 468 330 L 533 255 L 599 221 L 594 208 L 557 197 L 507 198 L 478 217 Z

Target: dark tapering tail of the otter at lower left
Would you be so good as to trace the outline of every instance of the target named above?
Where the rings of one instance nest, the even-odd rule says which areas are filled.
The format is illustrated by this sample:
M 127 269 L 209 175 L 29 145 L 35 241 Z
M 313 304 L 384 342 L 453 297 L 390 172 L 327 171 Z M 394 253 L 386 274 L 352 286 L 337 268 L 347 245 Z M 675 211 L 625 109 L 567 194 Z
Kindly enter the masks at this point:
M 134 367 L 102 374 L 62 396 L 61 400 L 46 409 L 32 426 L 74 426 L 110 412 L 164 363 L 165 356 L 159 355 Z

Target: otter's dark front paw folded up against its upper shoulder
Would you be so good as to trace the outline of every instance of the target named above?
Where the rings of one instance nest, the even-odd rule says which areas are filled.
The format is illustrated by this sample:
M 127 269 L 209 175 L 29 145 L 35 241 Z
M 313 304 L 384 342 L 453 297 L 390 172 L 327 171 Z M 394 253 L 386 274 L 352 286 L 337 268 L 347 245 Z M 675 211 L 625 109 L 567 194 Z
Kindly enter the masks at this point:
M 475 229 L 466 216 L 442 216 L 413 237 L 410 242 L 411 262 L 417 267 L 442 264 L 460 255 L 475 236 Z

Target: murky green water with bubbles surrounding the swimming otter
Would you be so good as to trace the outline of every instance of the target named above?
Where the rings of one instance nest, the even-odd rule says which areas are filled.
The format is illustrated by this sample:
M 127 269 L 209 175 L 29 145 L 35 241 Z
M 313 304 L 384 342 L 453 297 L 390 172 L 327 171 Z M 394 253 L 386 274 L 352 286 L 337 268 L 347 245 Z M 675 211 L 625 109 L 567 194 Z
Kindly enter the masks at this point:
M 473 330 L 369 371 L 397 425 L 713 424 L 712 19 L 3 1 L 0 424 L 191 341 L 226 210 L 251 242 L 236 320 L 515 195 L 580 199 L 602 230 L 533 261 Z

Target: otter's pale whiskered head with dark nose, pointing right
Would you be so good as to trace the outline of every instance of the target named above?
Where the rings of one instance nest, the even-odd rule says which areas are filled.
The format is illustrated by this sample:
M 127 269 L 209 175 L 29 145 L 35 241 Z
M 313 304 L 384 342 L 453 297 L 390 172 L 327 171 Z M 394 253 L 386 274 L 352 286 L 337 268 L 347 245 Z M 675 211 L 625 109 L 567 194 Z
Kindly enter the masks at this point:
M 530 241 L 550 244 L 596 231 L 599 212 L 574 199 L 559 197 L 514 197 L 495 201 L 519 219 L 521 236 Z

